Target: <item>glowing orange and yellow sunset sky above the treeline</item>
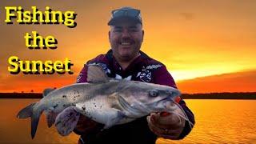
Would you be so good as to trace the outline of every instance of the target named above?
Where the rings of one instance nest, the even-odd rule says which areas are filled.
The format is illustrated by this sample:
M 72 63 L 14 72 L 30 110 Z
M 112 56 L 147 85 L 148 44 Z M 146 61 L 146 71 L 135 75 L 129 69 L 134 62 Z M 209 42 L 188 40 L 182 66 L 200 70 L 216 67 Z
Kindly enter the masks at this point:
M 61 3 L 61 4 L 60 4 Z M 74 10 L 75 28 L 64 25 L 6 25 L 5 6 L 44 11 Z M 110 11 L 133 6 L 142 11 L 145 37 L 141 50 L 164 63 L 182 93 L 256 91 L 256 1 L 1 1 L 0 92 L 42 92 L 76 82 L 85 62 L 110 49 Z M 23 38 L 36 30 L 58 39 L 55 50 L 29 50 Z M 10 74 L 8 58 L 70 58 L 74 74 Z

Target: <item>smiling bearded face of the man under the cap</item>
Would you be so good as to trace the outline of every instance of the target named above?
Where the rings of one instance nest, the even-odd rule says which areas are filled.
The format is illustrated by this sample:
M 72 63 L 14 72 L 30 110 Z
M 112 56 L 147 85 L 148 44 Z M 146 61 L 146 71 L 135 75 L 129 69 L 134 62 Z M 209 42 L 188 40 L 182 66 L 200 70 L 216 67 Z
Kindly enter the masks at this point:
M 144 31 L 139 23 L 122 21 L 110 26 L 109 40 L 115 58 L 130 61 L 139 54 Z

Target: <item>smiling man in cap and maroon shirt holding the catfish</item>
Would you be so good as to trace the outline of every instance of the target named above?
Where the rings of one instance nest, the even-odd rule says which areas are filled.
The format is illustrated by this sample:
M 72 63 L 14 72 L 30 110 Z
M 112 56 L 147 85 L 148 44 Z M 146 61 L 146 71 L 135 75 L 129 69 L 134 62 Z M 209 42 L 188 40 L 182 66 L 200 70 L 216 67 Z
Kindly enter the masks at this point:
M 98 65 L 102 66 L 111 78 L 151 82 L 177 88 L 166 66 L 140 51 L 144 36 L 140 10 L 130 7 L 113 10 L 108 25 L 111 50 L 86 62 L 78 76 L 78 82 L 86 82 L 88 66 Z M 194 124 L 194 115 L 186 103 L 180 100 L 179 104 Z M 182 115 L 182 110 L 176 112 Z M 74 132 L 81 135 L 79 143 L 149 144 L 155 143 L 158 137 L 182 139 L 190 133 L 191 128 L 189 122 L 183 119 L 180 121 L 177 114 L 162 112 L 107 130 L 102 130 L 102 124 L 80 116 Z

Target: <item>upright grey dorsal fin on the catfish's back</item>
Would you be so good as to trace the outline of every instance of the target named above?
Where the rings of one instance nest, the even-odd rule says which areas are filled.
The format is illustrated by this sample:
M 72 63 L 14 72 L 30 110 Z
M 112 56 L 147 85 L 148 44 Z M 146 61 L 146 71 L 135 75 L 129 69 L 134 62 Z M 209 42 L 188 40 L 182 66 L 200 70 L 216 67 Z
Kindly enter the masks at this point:
M 104 70 L 100 66 L 88 66 L 87 82 L 109 82 L 110 78 L 107 77 Z

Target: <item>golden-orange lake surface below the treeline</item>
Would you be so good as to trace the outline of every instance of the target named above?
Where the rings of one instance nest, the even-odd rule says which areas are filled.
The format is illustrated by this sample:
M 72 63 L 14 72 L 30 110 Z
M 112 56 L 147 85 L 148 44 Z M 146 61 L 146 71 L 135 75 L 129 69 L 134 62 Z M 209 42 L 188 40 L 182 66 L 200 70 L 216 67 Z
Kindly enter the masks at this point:
M 30 118 L 18 119 L 23 107 L 38 99 L 0 99 L 0 143 L 77 143 L 78 135 L 62 137 L 54 126 L 47 127 L 42 115 L 38 131 L 30 138 Z M 198 100 L 186 99 L 194 112 L 196 125 L 180 141 L 158 138 L 166 143 L 256 143 L 256 100 Z

